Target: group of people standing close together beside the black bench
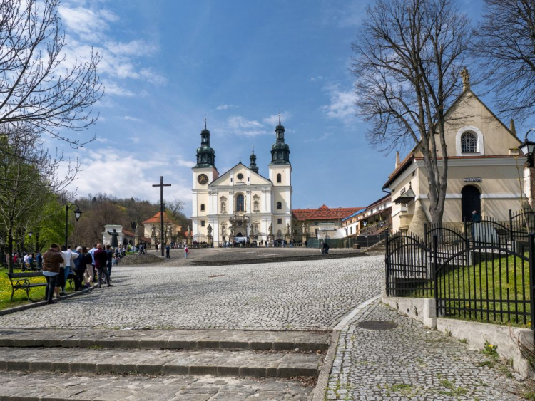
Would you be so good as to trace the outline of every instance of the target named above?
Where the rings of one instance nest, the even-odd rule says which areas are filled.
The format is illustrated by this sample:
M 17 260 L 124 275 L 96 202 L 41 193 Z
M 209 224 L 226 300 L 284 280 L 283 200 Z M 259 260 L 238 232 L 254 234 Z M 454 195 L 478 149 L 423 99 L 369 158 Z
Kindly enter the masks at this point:
M 43 254 L 43 276 L 46 278 L 45 298 L 48 303 L 54 303 L 54 298 L 65 295 L 65 285 L 71 271 L 73 273 L 74 291 L 81 291 L 93 284 L 97 277 L 98 288 L 104 283 L 111 287 L 111 268 L 114 252 L 110 245 L 93 245 L 92 249 L 78 246 L 76 252 L 71 246 L 51 244 L 50 249 Z

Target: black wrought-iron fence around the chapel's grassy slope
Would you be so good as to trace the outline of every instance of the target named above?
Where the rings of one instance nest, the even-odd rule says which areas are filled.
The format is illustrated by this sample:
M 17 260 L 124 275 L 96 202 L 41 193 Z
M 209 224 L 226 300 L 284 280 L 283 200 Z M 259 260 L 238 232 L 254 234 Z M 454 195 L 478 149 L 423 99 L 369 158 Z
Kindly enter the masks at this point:
M 535 213 L 509 215 L 505 223 L 429 226 L 424 238 L 388 234 L 387 295 L 435 298 L 439 316 L 531 326 Z

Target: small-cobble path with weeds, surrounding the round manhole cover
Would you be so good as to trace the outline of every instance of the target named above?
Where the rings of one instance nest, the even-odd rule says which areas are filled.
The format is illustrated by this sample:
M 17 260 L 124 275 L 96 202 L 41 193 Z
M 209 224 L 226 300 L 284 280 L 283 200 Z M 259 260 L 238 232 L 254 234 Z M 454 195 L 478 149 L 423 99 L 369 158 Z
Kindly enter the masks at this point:
M 393 321 L 367 330 L 362 321 Z M 372 303 L 340 333 L 327 400 L 520 400 L 526 392 L 504 365 L 467 345 Z

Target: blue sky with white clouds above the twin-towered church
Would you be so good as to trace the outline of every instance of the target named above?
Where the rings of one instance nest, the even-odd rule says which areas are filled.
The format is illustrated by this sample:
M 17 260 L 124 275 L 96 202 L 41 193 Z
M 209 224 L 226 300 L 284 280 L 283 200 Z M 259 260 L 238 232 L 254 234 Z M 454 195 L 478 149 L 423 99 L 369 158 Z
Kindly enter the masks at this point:
M 255 145 L 267 175 L 277 114 L 290 145 L 293 208 L 360 207 L 382 197 L 394 167 L 365 140 L 349 72 L 365 16 L 359 1 L 63 1 L 68 58 L 93 46 L 106 95 L 98 139 L 68 155 L 83 171 L 77 193 L 191 204 L 191 170 L 208 119 L 220 174 Z M 478 15 L 481 1 L 463 3 Z M 78 135 L 78 134 L 73 134 Z

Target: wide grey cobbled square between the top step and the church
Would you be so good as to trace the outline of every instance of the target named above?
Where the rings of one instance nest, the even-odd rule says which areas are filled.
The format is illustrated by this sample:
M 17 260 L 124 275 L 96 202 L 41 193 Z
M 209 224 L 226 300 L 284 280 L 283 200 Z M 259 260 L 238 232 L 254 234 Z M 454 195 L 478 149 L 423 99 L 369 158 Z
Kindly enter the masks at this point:
M 118 266 L 113 287 L 0 316 L 0 327 L 327 330 L 380 293 L 383 271 L 384 256 Z

